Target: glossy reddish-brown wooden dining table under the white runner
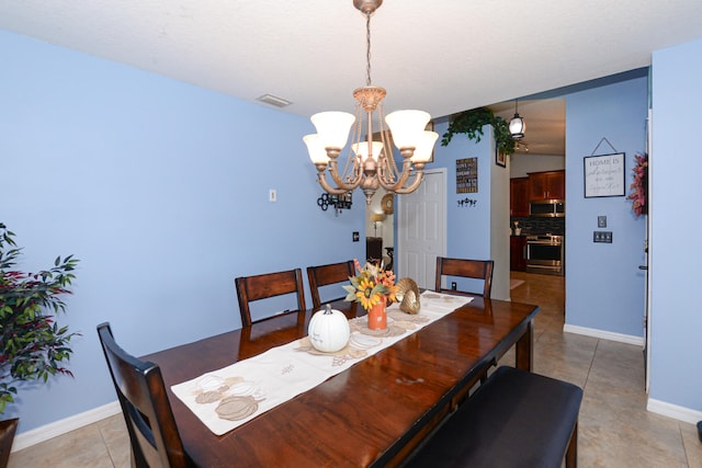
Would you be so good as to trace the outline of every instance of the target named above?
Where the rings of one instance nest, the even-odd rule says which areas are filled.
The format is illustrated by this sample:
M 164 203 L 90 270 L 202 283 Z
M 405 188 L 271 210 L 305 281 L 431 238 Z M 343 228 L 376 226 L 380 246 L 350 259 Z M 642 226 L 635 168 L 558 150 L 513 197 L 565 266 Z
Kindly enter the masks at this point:
M 335 303 L 348 318 L 355 303 Z M 395 466 L 512 346 L 532 368 L 534 305 L 474 298 L 258 418 L 215 435 L 170 387 L 307 334 L 292 312 L 144 356 L 161 368 L 190 457 L 203 467 Z M 421 312 L 420 312 L 421 313 Z

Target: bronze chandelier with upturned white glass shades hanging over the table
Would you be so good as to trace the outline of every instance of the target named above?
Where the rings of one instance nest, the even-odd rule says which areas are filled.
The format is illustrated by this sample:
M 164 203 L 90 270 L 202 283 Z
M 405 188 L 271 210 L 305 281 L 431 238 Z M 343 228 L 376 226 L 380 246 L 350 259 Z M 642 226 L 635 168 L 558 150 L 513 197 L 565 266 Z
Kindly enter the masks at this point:
M 353 0 L 353 5 L 365 15 L 366 30 L 366 84 L 353 91 L 355 115 L 347 112 L 315 114 L 310 121 L 317 133 L 303 137 L 309 159 L 317 167 L 317 181 L 321 187 L 331 195 L 342 195 L 361 187 L 367 205 L 381 186 L 396 194 L 416 191 L 424 178 L 424 165 L 431 159 L 439 137 L 435 132 L 426 130 L 431 116 L 423 111 L 396 111 L 384 115 L 386 91 L 371 82 L 371 15 L 382 4 L 383 0 Z M 376 111 L 378 130 L 374 134 L 373 114 Z M 385 128 L 384 122 L 389 128 Z M 338 158 L 352 126 L 352 144 L 341 170 Z M 393 142 L 403 157 L 401 171 L 393 155 Z

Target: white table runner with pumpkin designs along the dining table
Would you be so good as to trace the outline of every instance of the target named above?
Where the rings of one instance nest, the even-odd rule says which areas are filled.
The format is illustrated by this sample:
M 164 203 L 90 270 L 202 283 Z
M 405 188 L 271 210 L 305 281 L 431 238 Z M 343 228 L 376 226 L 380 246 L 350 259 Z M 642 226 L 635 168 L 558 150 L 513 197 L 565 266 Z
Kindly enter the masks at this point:
M 369 330 L 367 318 L 349 320 L 349 344 L 321 353 L 307 336 L 171 387 L 215 434 L 222 435 L 284 403 L 405 336 L 468 304 L 472 297 L 433 292 L 421 295 L 417 315 L 387 308 L 387 329 Z

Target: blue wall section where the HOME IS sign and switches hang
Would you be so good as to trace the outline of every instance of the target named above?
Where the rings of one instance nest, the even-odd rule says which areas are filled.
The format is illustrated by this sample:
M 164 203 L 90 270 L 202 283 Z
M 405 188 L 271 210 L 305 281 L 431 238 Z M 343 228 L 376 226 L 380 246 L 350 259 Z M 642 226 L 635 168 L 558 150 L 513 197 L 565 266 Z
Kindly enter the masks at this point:
M 636 152 L 646 149 L 647 79 L 635 78 L 566 98 L 566 323 L 643 339 L 645 218 L 626 196 L 585 198 L 584 158 L 604 137 L 625 152 L 625 193 Z M 613 151 L 607 141 L 595 155 Z M 598 216 L 607 216 L 599 229 Z M 593 243 L 592 232 L 613 232 Z

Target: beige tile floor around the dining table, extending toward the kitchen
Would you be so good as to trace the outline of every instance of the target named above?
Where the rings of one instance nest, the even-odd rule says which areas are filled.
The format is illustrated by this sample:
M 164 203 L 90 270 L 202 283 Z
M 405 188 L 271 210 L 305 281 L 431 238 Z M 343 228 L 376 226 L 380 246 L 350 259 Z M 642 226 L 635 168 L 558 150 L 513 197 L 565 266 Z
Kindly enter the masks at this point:
M 585 389 L 580 409 L 581 467 L 702 468 L 702 443 L 693 424 L 646 411 L 644 357 L 639 346 L 564 333 L 564 288 L 559 276 L 512 273 L 524 283 L 512 300 L 539 304 L 535 372 Z M 508 353 L 505 363 L 513 361 Z M 129 466 L 122 415 L 16 452 L 10 468 Z

